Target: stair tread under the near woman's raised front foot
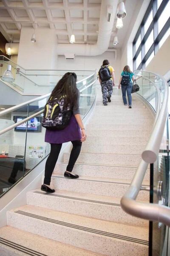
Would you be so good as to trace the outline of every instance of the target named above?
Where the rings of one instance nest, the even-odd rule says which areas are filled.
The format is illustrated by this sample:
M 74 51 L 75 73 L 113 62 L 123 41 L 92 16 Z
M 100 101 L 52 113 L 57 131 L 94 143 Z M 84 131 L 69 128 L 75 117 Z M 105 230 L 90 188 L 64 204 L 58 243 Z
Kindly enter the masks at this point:
M 61 174 L 53 174 L 52 177 L 59 177 L 59 178 L 63 178 L 63 179 L 67 179 L 65 178 L 63 175 Z M 75 180 L 75 179 L 73 179 Z M 104 182 L 104 183 L 119 183 L 119 184 L 127 184 L 130 185 L 131 180 L 124 180 L 124 179 L 111 179 L 111 178 L 104 178 L 104 177 L 89 177 L 89 176 L 79 176 L 78 179 L 76 180 L 90 180 L 90 181 L 98 181 L 98 182 Z M 144 185 L 149 186 L 149 181 L 144 181 Z

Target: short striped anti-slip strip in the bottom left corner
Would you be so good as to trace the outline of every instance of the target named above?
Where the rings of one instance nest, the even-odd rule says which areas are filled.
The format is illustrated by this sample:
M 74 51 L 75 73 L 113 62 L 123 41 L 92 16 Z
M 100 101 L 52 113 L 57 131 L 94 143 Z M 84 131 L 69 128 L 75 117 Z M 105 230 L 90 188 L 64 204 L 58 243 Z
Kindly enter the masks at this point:
M 16 243 L 14 243 L 12 241 L 6 240 L 6 239 L 4 239 L 2 237 L 0 237 L 0 244 L 4 244 L 4 245 L 6 245 L 8 247 L 11 247 L 11 248 L 13 248 L 15 250 L 18 250 L 20 252 L 26 253 L 26 254 L 31 255 L 31 256 L 48 256 L 46 254 L 39 253 L 39 252 L 37 252 L 35 250 L 32 250 L 32 249 L 30 249 L 28 247 L 25 247 L 23 245 L 16 244 Z

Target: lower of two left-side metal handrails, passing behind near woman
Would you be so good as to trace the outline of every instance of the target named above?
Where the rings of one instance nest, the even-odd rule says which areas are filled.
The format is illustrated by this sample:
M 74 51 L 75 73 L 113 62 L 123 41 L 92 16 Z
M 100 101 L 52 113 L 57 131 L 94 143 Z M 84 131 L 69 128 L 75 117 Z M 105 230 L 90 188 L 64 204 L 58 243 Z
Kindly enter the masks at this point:
M 89 84 L 88 86 L 85 86 L 82 90 L 80 90 L 80 93 L 82 93 L 82 91 L 84 91 L 85 89 L 87 89 L 89 86 L 93 85 L 93 84 L 96 82 L 96 80 L 97 80 L 97 78 L 96 78 L 91 84 Z M 48 93 L 48 94 L 51 95 L 51 93 Z M 38 98 L 40 99 L 41 96 L 38 97 Z M 38 99 L 38 98 L 37 98 L 37 99 Z M 42 98 L 41 98 L 41 99 L 42 99 Z M 27 105 L 27 104 L 26 104 L 26 105 Z M 39 111 L 39 112 L 37 112 L 37 113 L 35 113 L 35 114 L 31 115 L 31 116 L 26 117 L 25 119 L 23 119 L 23 120 L 21 120 L 21 121 L 15 123 L 14 125 L 11 125 L 11 126 L 5 128 L 5 129 L 3 129 L 2 131 L 0 131 L 0 135 L 6 133 L 7 131 L 10 131 L 10 130 L 14 129 L 14 128 L 17 127 L 18 125 L 22 125 L 23 123 L 29 121 L 30 119 L 34 118 L 35 116 L 38 116 L 38 115 L 42 114 L 43 112 L 44 112 L 44 109 L 42 109 L 41 111 Z

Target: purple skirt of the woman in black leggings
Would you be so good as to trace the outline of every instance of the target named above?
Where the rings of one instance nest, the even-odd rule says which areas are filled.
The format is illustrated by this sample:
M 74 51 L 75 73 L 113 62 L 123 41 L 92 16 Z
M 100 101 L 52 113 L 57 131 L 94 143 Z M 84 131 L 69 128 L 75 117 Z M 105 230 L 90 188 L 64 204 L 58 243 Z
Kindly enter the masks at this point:
M 74 115 L 71 116 L 68 126 L 63 130 L 50 131 L 46 129 L 45 132 L 45 142 L 52 144 L 61 144 L 68 141 L 81 140 L 81 138 L 81 129 Z

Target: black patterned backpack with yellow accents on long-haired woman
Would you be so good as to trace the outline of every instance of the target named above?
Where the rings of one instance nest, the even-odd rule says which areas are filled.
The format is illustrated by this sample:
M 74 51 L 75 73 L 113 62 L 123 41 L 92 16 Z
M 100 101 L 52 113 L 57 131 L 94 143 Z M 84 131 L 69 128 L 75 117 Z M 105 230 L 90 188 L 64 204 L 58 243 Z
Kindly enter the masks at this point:
M 63 130 L 70 122 L 72 111 L 68 104 L 64 109 L 64 100 L 66 96 L 59 99 L 49 99 L 45 105 L 44 116 L 42 118 L 42 126 L 48 130 Z

